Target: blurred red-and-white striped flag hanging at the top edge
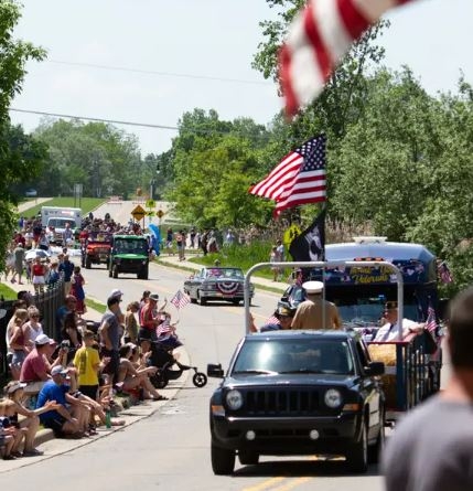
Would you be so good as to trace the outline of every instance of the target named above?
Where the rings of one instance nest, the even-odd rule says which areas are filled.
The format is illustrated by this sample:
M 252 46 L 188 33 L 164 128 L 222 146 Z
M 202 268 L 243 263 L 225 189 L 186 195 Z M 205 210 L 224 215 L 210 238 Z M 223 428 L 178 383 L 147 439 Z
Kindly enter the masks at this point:
M 370 24 L 412 0 L 310 0 L 279 53 L 286 111 L 293 116 L 323 89 L 333 70 Z

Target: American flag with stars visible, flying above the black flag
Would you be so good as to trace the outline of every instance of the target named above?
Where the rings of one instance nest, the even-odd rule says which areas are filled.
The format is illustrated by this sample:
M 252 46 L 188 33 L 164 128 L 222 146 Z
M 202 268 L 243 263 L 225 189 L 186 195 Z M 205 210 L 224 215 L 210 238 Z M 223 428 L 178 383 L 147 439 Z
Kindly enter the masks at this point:
M 312 138 L 288 153 L 249 193 L 276 201 L 275 214 L 299 204 L 326 199 L 324 135 Z

